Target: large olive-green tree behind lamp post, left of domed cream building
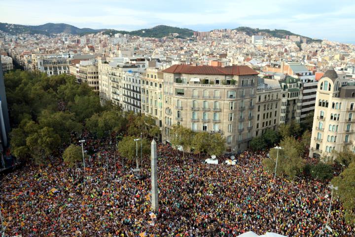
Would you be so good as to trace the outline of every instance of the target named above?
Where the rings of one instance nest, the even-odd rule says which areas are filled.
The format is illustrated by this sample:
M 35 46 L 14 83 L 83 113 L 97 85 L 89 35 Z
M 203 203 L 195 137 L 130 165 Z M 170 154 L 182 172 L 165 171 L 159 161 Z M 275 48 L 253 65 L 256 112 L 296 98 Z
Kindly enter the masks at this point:
M 304 160 L 301 158 L 302 144 L 293 137 L 287 137 L 281 141 L 280 146 L 282 149 L 271 149 L 269 152 L 270 158 L 263 160 L 264 169 L 269 172 L 275 171 L 277 152 L 279 151 L 276 171 L 278 174 L 287 175 L 292 179 L 301 173 L 304 167 Z

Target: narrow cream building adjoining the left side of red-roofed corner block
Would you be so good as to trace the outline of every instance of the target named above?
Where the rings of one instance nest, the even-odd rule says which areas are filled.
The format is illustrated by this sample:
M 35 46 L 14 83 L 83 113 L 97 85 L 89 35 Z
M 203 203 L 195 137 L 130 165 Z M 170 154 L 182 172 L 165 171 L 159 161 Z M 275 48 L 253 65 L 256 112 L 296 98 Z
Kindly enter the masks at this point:
M 147 68 L 142 75 L 142 113 L 150 115 L 162 127 L 163 117 L 163 73 L 156 68 Z

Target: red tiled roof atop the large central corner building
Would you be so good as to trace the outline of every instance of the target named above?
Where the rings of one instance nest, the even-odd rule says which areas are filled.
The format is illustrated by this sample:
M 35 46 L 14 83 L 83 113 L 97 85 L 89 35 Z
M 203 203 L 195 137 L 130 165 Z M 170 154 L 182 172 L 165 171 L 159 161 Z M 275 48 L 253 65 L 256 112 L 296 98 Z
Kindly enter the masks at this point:
M 256 71 L 248 66 L 190 66 L 190 65 L 173 65 L 163 71 L 164 73 L 185 73 L 185 74 L 208 74 L 208 75 L 258 75 Z

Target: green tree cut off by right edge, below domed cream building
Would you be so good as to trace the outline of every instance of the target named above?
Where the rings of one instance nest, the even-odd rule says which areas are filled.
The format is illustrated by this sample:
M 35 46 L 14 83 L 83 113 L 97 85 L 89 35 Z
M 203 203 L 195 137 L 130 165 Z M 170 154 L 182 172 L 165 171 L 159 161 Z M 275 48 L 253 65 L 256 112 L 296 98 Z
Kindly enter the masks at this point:
M 355 161 L 337 177 L 332 183 L 339 187 L 338 194 L 345 209 L 345 220 L 355 224 Z

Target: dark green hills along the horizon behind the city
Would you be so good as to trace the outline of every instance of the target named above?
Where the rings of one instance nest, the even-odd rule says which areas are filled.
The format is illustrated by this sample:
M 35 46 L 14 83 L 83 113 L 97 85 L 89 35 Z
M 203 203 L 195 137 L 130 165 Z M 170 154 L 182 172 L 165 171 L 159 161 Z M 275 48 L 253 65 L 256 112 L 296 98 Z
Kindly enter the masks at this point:
M 285 36 L 300 36 L 294 34 L 292 32 L 286 30 L 269 30 L 269 29 L 254 29 L 249 27 L 238 27 L 234 30 L 245 32 L 247 35 L 262 35 L 262 36 L 271 36 L 277 38 L 285 38 Z M 17 24 L 8 24 L 8 23 L 0 23 L 0 31 L 18 35 L 18 34 L 43 34 L 43 35 L 53 35 L 60 33 L 67 33 L 71 35 L 85 35 L 92 34 L 98 32 L 104 32 L 107 35 L 114 35 L 117 33 L 121 34 L 130 34 L 133 36 L 141 36 L 141 37 L 152 37 L 152 38 L 163 38 L 172 36 L 172 34 L 177 33 L 178 36 L 176 38 L 190 38 L 193 36 L 194 31 L 186 28 L 178 28 L 171 26 L 159 25 L 149 29 L 141 29 L 137 31 L 118 31 L 113 29 L 91 29 L 91 28 L 77 28 L 72 25 L 64 24 L 64 23 L 47 23 L 39 26 L 26 26 L 26 25 L 17 25 Z M 303 37 L 303 36 L 301 36 Z M 308 37 L 303 37 L 304 39 L 311 41 L 321 41 L 321 40 L 313 40 Z

